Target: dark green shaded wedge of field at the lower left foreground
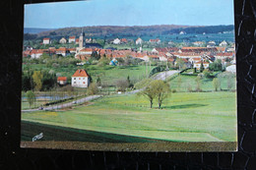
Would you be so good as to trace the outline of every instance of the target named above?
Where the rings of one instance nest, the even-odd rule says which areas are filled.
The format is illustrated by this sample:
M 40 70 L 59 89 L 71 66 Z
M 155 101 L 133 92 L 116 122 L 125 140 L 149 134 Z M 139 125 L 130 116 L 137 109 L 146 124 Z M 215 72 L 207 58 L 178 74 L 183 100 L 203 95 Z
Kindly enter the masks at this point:
M 45 125 L 22 121 L 22 141 L 31 142 L 32 138 L 43 133 L 38 141 L 54 142 L 158 142 L 146 138 L 128 137 L 110 133 L 100 133 L 74 128 Z

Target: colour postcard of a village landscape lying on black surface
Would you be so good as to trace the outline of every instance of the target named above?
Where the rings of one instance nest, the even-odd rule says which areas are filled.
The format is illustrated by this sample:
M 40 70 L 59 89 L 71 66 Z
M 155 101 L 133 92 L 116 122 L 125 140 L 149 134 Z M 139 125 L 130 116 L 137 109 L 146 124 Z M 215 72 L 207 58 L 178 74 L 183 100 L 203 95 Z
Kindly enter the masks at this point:
M 25 5 L 21 147 L 237 150 L 233 1 Z

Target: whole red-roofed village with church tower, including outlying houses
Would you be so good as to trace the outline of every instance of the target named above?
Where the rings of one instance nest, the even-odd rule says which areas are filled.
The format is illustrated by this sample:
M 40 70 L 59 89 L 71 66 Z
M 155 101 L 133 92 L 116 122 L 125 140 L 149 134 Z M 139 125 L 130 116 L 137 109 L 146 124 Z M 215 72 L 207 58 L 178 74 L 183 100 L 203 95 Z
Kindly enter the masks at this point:
M 180 32 L 180 34 L 182 33 L 184 32 Z M 126 38 L 115 38 L 111 41 L 111 43 L 115 45 L 125 44 L 127 42 L 128 40 Z M 69 36 L 67 39 L 65 37 L 59 39 L 59 44 L 67 43 L 77 44 L 78 47 L 59 47 L 58 49 L 55 47 L 49 47 L 47 49 L 32 49 L 32 47 L 27 47 L 23 52 L 23 57 L 39 59 L 43 54 L 48 54 L 49 56 L 59 55 L 62 57 L 72 55 L 75 59 L 80 61 L 77 63 L 78 66 L 87 64 L 92 56 L 104 56 L 110 61 L 109 65 L 112 66 L 121 66 L 123 65 L 121 62 L 122 59 L 130 57 L 137 62 L 161 62 L 171 64 L 172 66 L 177 66 L 179 63 L 182 63 L 182 66 L 179 65 L 179 70 L 195 68 L 197 71 L 200 71 L 201 67 L 209 69 L 211 63 L 221 61 L 223 70 L 235 72 L 234 44 L 227 44 L 225 40 L 220 44 L 216 44 L 215 41 L 209 41 L 207 43 L 203 41 L 195 41 L 192 42 L 193 46 L 183 46 L 181 48 L 154 47 L 152 50 L 144 51 L 142 47 L 143 44 L 160 44 L 160 39 L 150 39 L 146 42 L 138 37 L 135 40 L 138 49 L 115 49 L 113 47 L 104 49 L 100 44 L 92 43 L 92 38 L 86 39 L 85 33 L 81 32 L 81 35 L 78 38 L 76 38 L 76 36 Z M 51 45 L 51 39 L 45 37 L 42 39 L 41 44 Z M 89 75 L 86 71 L 80 73 L 78 70 L 74 73 L 72 81 L 70 82 L 72 86 L 88 87 L 90 85 Z M 68 83 L 67 77 L 65 77 L 65 75 L 58 77 L 57 83 L 59 85 L 66 85 Z

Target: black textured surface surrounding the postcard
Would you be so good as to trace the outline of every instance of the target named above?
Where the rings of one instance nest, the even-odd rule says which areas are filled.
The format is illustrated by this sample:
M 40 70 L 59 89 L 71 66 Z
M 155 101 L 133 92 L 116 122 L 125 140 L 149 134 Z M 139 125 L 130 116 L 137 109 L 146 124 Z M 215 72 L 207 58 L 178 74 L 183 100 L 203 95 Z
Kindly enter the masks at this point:
M 57 0 L 0 1 L 0 169 L 256 169 L 256 0 L 234 0 L 239 151 L 205 153 L 20 148 L 23 5 L 37 2 Z

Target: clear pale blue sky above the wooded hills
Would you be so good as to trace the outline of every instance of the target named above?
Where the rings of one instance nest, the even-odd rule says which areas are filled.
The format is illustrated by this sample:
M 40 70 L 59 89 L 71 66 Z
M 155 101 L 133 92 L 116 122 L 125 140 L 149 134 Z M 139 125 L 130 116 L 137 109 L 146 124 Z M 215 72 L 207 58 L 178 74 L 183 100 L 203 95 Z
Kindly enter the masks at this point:
M 25 5 L 24 27 L 233 24 L 233 0 L 90 0 Z

